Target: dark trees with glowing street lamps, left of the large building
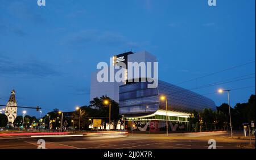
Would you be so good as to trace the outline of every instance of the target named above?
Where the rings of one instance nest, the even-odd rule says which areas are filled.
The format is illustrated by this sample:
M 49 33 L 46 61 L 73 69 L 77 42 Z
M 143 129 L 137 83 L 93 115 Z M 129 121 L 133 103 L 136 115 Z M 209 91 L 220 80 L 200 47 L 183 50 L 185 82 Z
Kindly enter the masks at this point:
M 116 128 L 117 123 L 121 120 L 121 116 L 119 115 L 119 104 L 109 98 L 108 96 L 101 96 L 100 98 L 93 98 L 92 101 L 89 102 L 88 106 L 81 106 L 81 129 L 89 129 L 89 125 L 92 124 L 93 119 L 102 119 L 102 123 L 104 124 L 104 128 L 106 128 L 106 123 L 109 123 L 109 105 L 105 105 L 104 101 L 108 100 L 111 103 L 111 123 L 114 124 Z M 45 128 L 48 129 L 49 121 L 51 122 L 51 126 L 53 129 L 59 128 L 61 126 L 61 114 L 59 113 L 59 109 L 53 109 L 53 111 L 47 113 L 42 117 L 42 119 L 37 119 L 35 116 L 24 116 L 24 126 L 32 126 L 35 128 L 36 126 L 47 126 Z M 51 118 L 51 119 L 49 119 Z M 63 113 L 63 124 L 67 122 L 66 127 L 79 128 L 79 118 L 80 118 L 80 110 L 75 110 L 72 112 L 64 112 Z M 7 116 L 5 114 L 0 114 L 0 127 L 7 126 Z M 14 127 L 22 126 L 23 116 L 17 116 L 14 120 Z M 34 127 L 33 127 L 34 125 Z

